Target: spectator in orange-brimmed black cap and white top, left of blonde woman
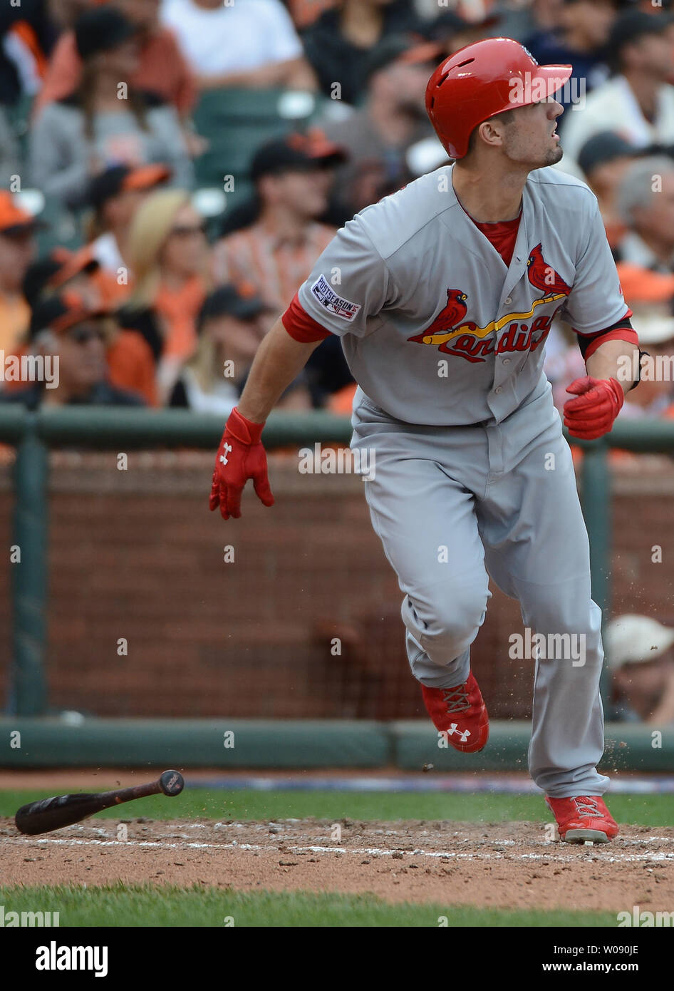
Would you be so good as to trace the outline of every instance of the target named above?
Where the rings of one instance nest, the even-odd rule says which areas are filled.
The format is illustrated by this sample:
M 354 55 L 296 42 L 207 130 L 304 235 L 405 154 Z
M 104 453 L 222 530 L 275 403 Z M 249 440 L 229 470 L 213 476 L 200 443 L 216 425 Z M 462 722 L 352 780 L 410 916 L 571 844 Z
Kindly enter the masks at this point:
M 111 165 L 89 182 L 86 204 L 93 210 L 87 225 L 91 253 L 117 284 L 124 286 L 122 276 L 128 285 L 132 282 L 126 245 L 136 211 L 170 174 L 166 165 Z

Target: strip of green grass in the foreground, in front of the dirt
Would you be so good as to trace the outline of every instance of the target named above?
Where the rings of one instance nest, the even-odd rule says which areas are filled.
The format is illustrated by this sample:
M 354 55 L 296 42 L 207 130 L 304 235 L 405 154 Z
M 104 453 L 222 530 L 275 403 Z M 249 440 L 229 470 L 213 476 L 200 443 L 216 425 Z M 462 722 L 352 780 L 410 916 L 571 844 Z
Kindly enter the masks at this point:
M 0 888 L 8 912 L 58 912 L 59 927 L 599 927 L 616 913 L 518 911 L 429 903 L 390 905 L 374 895 L 231 892 L 217 888 L 109 885 Z M 229 923 L 232 925 L 232 922 Z

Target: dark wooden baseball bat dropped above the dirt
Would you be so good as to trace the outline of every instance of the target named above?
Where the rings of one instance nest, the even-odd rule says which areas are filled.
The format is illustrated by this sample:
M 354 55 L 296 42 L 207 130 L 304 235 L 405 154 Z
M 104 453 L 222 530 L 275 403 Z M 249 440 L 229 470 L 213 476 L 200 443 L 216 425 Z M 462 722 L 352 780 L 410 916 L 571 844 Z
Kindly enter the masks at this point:
M 95 792 L 93 794 L 56 795 L 41 802 L 31 802 L 22 806 L 14 817 L 19 832 L 31 836 L 39 832 L 50 832 L 62 826 L 72 826 L 87 816 L 93 816 L 103 809 L 110 809 L 123 802 L 133 802 L 144 799 L 147 795 L 179 795 L 185 782 L 178 771 L 164 771 L 163 774 L 147 785 L 136 785 L 134 788 L 120 788 L 114 792 Z

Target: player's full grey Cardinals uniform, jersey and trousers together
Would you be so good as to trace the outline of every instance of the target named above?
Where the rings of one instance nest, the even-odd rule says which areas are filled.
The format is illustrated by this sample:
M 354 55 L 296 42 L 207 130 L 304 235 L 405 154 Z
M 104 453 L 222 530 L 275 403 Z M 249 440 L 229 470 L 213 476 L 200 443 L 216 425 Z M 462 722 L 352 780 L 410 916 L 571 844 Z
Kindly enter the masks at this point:
M 555 798 L 603 794 L 602 615 L 542 371 L 555 313 L 592 335 L 628 312 L 596 197 L 533 171 L 507 267 L 440 168 L 347 223 L 298 300 L 341 337 L 360 386 L 351 447 L 367 453 L 413 674 L 431 688 L 465 682 L 491 578 L 553 645 L 529 658 L 533 780 Z M 572 642 L 582 650 L 557 653 Z

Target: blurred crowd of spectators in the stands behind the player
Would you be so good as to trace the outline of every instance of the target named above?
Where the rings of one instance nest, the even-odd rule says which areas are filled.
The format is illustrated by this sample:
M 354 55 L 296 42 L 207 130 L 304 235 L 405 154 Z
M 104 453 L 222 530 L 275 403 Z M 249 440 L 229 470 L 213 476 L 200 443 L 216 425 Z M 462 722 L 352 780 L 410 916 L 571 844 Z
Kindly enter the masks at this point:
M 447 163 L 433 67 L 505 35 L 574 66 L 558 167 L 595 191 L 642 347 L 674 352 L 674 15 L 629 0 L 21 0 L 0 12 L 0 400 L 223 417 L 337 228 Z M 229 123 L 228 123 L 229 122 Z M 245 128 L 247 127 L 247 131 Z M 232 131 L 230 132 L 230 128 Z M 241 135 L 256 135 L 243 148 Z M 228 136 L 231 144 L 227 145 Z M 244 152 L 244 163 L 231 166 Z M 209 156 L 211 157 L 209 160 Z M 207 174 L 215 157 L 219 181 Z M 657 177 L 657 181 L 655 178 Z M 585 374 L 548 339 L 555 401 Z M 674 376 L 672 376 L 674 378 Z M 328 338 L 279 405 L 350 408 Z M 623 416 L 673 416 L 674 382 Z

